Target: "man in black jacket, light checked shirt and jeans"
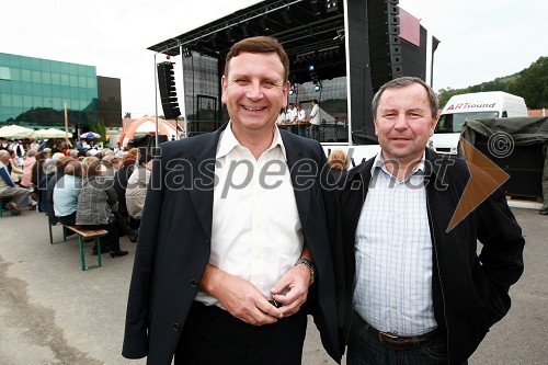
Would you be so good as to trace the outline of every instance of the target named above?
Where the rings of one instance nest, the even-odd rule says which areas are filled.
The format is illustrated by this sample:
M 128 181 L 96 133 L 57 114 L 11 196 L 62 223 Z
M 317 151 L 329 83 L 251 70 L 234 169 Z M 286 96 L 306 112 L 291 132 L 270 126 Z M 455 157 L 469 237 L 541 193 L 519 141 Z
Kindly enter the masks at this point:
M 525 242 L 500 190 L 448 229 L 469 169 L 475 186 L 492 180 L 425 149 L 437 109 L 416 78 L 374 98 L 381 152 L 350 172 L 341 195 L 349 365 L 466 363 L 523 273 Z

